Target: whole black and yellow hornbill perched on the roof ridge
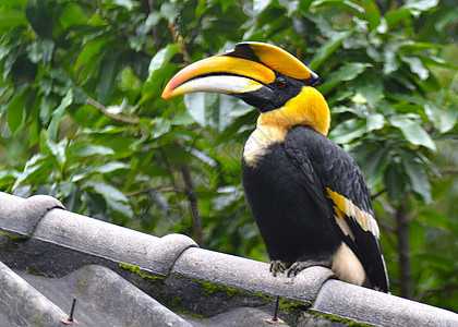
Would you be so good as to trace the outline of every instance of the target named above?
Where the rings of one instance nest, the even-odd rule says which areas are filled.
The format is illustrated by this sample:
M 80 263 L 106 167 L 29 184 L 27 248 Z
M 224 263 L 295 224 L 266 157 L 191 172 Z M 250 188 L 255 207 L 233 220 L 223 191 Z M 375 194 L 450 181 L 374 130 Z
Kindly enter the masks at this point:
M 329 267 L 341 280 L 389 291 L 379 231 L 361 171 L 326 137 L 329 108 L 317 74 L 287 51 L 240 43 L 170 80 L 162 98 L 236 96 L 260 111 L 243 150 L 243 187 L 270 271 Z

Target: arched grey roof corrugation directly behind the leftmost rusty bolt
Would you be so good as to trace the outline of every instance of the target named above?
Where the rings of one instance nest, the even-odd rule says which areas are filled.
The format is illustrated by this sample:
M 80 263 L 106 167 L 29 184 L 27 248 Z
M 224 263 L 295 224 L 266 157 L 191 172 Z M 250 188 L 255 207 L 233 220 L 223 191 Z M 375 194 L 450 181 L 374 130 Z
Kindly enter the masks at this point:
M 20 275 L 62 311 L 70 311 L 75 296 L 73 316 L 85 326 L 192 326 L 103 266 L 88 265 L 60 278 Z

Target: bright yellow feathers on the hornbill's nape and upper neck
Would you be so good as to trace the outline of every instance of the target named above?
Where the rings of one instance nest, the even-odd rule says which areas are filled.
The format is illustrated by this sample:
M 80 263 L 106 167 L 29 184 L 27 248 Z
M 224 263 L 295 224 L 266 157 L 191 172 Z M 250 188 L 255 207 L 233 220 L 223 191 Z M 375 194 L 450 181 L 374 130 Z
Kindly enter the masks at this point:
M 270 125 L 289 130 L 296 125 L 309 125 L 327 135 L 329 131 L 329 108 L 323 95 L 314 87 L 304 86 L 301 93 L 288 100 L 284 107 L 261 113 L 257 125 Z

